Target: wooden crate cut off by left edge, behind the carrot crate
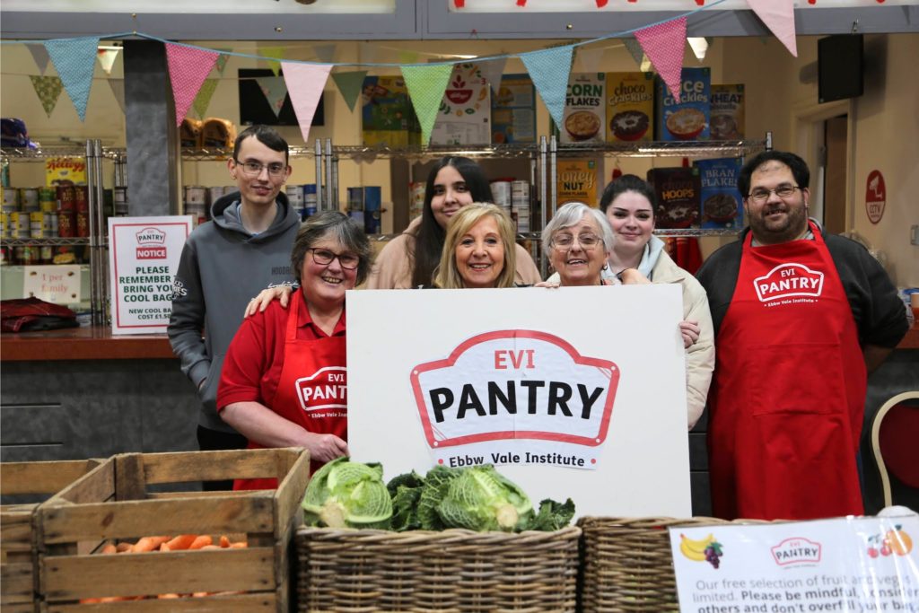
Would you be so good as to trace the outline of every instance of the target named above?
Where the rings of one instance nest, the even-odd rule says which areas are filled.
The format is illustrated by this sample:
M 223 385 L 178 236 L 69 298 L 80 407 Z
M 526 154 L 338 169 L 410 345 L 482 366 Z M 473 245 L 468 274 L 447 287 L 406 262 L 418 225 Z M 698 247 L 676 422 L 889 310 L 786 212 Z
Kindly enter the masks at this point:
M 0 494 L 48 498 L 92 470 L 99 461 L 6 462 L 0 464 Z M 0 607 L 10 613 L 34 611 L 38 606 L 38 557 L 32 529 L 38 505 L 0 505 Z

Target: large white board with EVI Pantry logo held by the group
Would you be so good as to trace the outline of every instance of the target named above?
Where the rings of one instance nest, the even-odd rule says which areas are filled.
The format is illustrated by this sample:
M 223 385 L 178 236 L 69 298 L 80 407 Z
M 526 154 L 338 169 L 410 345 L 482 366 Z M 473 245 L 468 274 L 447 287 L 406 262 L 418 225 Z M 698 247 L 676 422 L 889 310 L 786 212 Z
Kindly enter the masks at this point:
M 678 286 L 358 290 L 346 303 L 355 460 L 387 479 L 494 464 L 579 516 L 691 513 Z

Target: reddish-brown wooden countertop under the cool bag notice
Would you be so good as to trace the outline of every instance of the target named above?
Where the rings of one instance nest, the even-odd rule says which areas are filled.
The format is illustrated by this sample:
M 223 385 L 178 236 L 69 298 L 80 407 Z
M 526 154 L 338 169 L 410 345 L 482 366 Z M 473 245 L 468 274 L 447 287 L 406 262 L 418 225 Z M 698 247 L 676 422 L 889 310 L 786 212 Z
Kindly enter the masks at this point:
M 0 335 L 0 361 L 4 362 L 153 358 L 176 358 L 165 333 L 112 335 L 108 326 L 80 326 Z

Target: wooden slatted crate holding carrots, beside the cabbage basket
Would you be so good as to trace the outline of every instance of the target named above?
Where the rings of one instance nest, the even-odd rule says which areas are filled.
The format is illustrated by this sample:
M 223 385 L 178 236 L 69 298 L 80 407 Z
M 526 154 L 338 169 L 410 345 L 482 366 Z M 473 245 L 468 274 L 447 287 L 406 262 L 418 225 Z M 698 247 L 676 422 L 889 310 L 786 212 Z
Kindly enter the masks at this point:
M 112 610 L 81 600 L 153 596 L 126 611 L 287 611 L 292 536 L 302 522 L 309 452 L 299 448 L 125 454 L 40 505 L 42 611 Z M 277 490 L 166 492 L 164 483 L 277 477 Z M 162 487 L 158 489 L 163 489 Z M 106 544 L 145 536 L 207 534 L 246 549 L 103 555 Z M 161 594 L 213 596 L 156 599 Z M 217 594 L 222 593 L 222 594 Z

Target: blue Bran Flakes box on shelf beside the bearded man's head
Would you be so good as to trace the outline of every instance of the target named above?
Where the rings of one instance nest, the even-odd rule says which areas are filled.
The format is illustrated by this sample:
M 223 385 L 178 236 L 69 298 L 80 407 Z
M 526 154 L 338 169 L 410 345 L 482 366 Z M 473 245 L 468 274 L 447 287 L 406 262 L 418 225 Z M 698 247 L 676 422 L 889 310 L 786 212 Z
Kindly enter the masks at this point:
M 724 157 L 714 160 L 697 160 L 701 199 L 699 219 L 703 228 L 743 227 L 743 199 L 737 188 L 743 160 Z

